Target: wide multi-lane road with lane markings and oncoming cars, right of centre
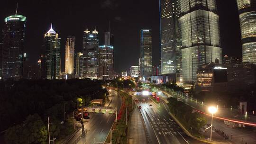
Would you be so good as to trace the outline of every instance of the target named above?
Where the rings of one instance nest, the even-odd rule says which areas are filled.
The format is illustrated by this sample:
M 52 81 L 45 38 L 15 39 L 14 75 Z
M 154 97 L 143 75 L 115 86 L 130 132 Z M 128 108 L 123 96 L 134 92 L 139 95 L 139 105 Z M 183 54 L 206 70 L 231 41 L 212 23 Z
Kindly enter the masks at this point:
M 183 129 L 168 114 L 168 106 L 163 100 L 156 104 L 149 96 L 133 95 L 146 123 L 151 144 L 204 144 L 186 135 Z M 150 104 L 152 106 L 150 106 Z

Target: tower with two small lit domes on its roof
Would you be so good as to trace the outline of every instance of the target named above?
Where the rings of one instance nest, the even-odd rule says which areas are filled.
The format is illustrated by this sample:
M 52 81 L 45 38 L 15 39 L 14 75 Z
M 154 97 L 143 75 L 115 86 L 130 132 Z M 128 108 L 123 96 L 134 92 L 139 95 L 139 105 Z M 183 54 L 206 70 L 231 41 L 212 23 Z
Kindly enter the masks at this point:
M 99 76 L 99 39 L 96 28 L 92 33 L 86 28 L 82 40 L 83 76 L 98 79 Z

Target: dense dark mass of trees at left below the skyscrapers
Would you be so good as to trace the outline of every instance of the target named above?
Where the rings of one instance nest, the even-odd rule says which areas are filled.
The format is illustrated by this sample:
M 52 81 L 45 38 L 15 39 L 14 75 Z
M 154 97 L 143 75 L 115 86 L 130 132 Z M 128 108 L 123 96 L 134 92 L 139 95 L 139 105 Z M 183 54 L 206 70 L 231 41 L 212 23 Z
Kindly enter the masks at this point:
M 106 90 L 101 87 L 101 81 L 91 81 L 90 79 L 66 81 L 9 80 L 0 82 L 0 131 L 9 128 L 5 134 L 6 139 L 9 140 L 8 144 L 14 144 L 10 137 L 19 135 L 18 133 L 24 133 L 24 130 L 27 130 L 28 134 L 20 136 L 26 138 L 29 135 L 31 136 L 31 133 L 35 133 L 42 136 L 41 140 L 45 140 L 44 130 L 47 126 L 47 117 L 50 117 L 51 122 L 53 122 L 50 129 L 51 135 L 57 137 L 60 134 L 63 135 L 63 133 L 68 134 L 67 126 L 60 124 L 61 121 L 64 121 L 64 108 L 67 113 L 73 112 L 77 105 L 77 98 L 85 99 L 86 96 L 87 100 L 92 99 L 92 97 L 101 99 L 104 98 L 105 92 Z M 42 129 L 40 131 L 42 134 L 29 131 L 31 130 L 30 125 L 33 123 L 36 123 L 35 126 Z M 11 135 L 15 129 L 16 133 Z M 67 131 L 64 131 L 64 129 L 67 129 Z M 22 140 L 17 138 L 17 141 Z M 41 143 L 32 141 L 33 139 L 21 144 Z

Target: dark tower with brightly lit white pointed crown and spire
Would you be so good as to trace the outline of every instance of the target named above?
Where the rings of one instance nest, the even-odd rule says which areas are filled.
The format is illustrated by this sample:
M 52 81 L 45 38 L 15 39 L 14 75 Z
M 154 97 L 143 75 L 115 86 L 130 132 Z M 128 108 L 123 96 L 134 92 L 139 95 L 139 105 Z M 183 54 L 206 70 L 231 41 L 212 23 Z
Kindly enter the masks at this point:
M 45 34 L 44 44 L 42 45 L 42 79 L 60 79 L 60 41 L 61 39 L 51 26 L 50 30 Z

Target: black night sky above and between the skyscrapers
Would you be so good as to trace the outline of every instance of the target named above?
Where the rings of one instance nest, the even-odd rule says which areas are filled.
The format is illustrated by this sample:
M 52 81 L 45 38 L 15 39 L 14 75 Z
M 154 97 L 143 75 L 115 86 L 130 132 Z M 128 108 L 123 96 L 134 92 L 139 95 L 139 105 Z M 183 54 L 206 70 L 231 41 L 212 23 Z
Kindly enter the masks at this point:
M 114 34 L 115 71 L 127 71 L 138 65 L 139 30 L 152 29 L 153 65 L 160 61 L 160 29 L 158 0 L 1 0 L 0 29 L 4 18 L 15 14 L 27 17 L 25 52 L 29 63 L 36 64 L 44 34 L 51 22 L 61 38 L 62 71 L 66 37 L 76 36 L 75 51 L 82 52 L 82 35 L 88 25 L 90 31 L 96 26 L 100 45 L 104 43 L 104 31 Z M 241 57 L 241 36 L 236 0 L 217 0 L 220 36 L 223 55 Z

